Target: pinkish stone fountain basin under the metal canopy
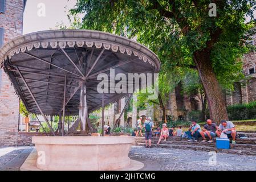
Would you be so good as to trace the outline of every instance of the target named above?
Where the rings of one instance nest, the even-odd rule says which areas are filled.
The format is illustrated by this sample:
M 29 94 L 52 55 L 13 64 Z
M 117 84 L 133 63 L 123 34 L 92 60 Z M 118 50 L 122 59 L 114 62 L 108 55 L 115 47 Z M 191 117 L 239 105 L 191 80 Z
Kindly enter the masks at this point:
M 32 137 L 42 170 L 107 171 L 128 167 L 134 137 Z

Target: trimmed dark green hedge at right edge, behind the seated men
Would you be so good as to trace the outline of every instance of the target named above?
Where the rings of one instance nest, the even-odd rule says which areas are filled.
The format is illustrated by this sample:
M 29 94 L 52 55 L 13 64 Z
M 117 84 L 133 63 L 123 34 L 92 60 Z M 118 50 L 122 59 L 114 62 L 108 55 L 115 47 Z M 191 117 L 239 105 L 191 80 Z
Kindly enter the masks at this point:
M 245 120 L 256 118 L 256 101 L 249 104 L 227 106 L 229 120 Z

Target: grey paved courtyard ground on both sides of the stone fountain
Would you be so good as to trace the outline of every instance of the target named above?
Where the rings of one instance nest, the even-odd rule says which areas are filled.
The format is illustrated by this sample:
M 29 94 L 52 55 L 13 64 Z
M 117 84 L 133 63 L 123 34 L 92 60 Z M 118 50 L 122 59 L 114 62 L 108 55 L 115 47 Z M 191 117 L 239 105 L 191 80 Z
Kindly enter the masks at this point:
M 0 170 L 19 170 L 32 148 L 0 148 Z M 142 170 L 256 170 L 256 156 L 218 153 L 214 165 L 209 164 L 212 155 L 204 151 L 132 146 L 129 155 L 145 164 Z

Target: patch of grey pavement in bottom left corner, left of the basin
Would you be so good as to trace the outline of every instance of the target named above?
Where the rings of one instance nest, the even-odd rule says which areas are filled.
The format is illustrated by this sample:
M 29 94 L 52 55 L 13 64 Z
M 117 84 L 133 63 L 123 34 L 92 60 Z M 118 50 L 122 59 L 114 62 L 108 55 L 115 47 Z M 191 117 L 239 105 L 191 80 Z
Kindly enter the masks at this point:
M 30 154 L 32 147 L 5 147 L 0 148 L 0 171 L 19 170 L 19 167 Z

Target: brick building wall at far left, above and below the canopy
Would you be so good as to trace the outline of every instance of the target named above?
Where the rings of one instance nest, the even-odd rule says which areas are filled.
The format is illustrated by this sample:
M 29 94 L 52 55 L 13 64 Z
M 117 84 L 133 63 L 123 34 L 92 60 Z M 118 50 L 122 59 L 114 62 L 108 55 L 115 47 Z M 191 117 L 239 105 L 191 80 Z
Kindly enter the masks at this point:
M 5 29 L 4 42 L 22 35 L 23 1 L 6 0 L 6 12 L 0 14 L 0 27 Z M 6 73 L 1 69 L 0 146 L 17 145 L 19 99 Z

